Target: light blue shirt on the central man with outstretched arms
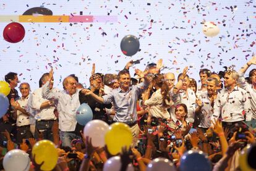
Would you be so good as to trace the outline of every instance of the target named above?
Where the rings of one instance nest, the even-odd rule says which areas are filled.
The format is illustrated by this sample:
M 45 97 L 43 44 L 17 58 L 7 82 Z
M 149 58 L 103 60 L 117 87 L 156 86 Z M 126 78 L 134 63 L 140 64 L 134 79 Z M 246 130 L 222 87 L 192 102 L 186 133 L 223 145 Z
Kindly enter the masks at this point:
M 137 121 L 138 96 L 148 88 L 148 85 L 149 83 L 143 81 L 138 85 L 130 86 L 126 92 L 123 92 L 119 87 L 102 97 L 104 104 L 114 103 L 115 122 L 130 124 Z

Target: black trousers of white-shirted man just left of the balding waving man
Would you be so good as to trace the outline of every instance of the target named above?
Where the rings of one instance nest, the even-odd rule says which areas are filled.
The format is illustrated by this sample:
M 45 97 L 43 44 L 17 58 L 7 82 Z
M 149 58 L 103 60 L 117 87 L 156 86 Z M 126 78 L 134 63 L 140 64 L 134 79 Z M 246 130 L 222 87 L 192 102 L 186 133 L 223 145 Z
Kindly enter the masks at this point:
M 35 138 L 39 138 L 39 133 L 43 135 L 44 140 L 53 141 L 53 128 L 54 120 L 36 120 Z

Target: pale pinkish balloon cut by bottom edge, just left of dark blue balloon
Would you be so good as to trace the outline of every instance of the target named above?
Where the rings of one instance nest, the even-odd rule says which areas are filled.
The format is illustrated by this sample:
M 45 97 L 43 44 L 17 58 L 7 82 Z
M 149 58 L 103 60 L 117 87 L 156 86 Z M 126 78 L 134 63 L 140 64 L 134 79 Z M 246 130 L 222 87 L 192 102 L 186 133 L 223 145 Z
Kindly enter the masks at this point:
M 156 158 L 147 165 L 147 171 L 169 170 L 175 171 L 176 168 L 171 161 L 165 158 Z

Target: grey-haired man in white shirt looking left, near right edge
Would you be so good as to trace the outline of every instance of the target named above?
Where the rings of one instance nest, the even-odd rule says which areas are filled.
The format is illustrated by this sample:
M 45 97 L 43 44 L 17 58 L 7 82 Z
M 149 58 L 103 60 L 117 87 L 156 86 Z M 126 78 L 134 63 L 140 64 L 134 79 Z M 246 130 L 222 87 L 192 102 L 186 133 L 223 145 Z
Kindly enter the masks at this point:
M 228 70 L 224 75 L 225 89 L 218 93 L 214 113 L 211 120 L 221 117 L 223 127 L 233 128 L 235 123 L 242 124 L 252 119 L 252 110 L 250 101 L 248 100 L 249 94 L 237 86 L 238 73 L 235 70 Z M 243 115 L 245 112 L 245 118 Z

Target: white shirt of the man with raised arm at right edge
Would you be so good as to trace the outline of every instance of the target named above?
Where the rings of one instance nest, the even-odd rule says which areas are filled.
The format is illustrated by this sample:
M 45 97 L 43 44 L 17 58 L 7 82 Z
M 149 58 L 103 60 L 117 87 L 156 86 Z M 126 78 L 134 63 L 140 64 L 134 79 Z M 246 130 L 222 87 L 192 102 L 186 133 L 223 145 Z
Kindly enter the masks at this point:
M 239 83 L 241 88 L 243 88 L 249 94 L 250 107 L 252 109 L 252 118 L 256 119 L 256 90 L 253 85 L 250 85 L 244 79 L 244 73 L 238 72 L 239 74 Z

